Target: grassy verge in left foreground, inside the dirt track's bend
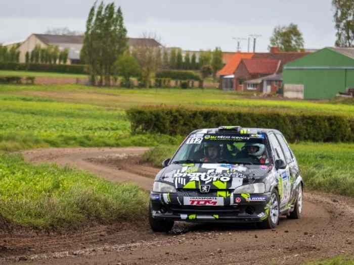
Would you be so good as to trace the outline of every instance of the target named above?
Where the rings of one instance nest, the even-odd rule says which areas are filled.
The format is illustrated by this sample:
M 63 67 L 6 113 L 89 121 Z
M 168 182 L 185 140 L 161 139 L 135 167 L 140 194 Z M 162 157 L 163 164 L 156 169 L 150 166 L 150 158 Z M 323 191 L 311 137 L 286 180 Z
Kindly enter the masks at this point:
M 0 215 L 33 228 L 146 218 L 148 194 L 134 184 L 113 184 L 55 165 L 34 166 L 18 155 L 0 155 L 0 190 Z

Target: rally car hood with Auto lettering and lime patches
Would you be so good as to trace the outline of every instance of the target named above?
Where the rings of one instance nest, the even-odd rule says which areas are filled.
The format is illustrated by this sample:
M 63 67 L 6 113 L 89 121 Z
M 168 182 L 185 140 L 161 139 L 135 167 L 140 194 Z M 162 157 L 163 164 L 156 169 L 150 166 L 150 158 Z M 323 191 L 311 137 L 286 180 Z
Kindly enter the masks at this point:
M 235 189 L 264 178 L 272 166 L 233 164 L 171 164 L 160 171 L 155 180 L 173 183 L 178 189 Z

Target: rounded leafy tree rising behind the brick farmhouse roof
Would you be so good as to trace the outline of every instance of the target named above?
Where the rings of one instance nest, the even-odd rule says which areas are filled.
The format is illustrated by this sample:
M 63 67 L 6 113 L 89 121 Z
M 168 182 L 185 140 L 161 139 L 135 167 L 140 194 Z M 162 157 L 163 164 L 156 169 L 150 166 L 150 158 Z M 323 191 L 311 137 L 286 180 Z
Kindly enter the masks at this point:
M 304 45 L 302 33 L 293 23 L 275 27 L 270 41 L 271 46 L 279 47 L 281 51 L 301 51 Z

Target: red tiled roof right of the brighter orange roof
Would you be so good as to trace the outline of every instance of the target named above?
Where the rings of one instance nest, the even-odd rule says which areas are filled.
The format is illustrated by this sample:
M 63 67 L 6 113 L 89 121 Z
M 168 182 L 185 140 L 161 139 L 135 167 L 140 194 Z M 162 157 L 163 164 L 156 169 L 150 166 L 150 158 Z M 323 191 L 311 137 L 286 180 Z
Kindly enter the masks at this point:
M 279 67 L 279 60 L 267 59 L 243 59 L 247 71 L 250 74 L 274 74 Z

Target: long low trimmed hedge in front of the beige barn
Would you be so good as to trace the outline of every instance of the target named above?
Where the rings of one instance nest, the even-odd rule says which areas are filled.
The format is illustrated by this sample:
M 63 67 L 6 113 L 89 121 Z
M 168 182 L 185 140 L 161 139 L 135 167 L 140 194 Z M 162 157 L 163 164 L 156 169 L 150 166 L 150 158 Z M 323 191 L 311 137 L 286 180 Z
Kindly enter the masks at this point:
M 55 72 L 64 74 L 87 74 L 86 65 L 0 63 L 0 70 Z

